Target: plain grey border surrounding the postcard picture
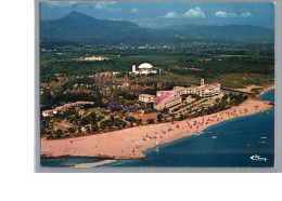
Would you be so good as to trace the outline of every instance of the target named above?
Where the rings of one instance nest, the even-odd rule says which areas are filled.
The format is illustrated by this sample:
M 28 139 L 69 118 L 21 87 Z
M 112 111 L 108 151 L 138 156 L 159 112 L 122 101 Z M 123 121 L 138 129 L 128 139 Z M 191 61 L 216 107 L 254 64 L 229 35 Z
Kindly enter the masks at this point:
M 36 173 L 282 173 L 282 0 L 205 0 L 206 2 L 273 2 L 275 3 L 275 104 L 274 104 L 274 166 L 273 168 L 107 168 L 97 166 L 92 169 L 75 168 L 46 168 L 40 165 L 40 2 L 54 0 L 35 0 L 35 163 Z M 67 1 L 67 0 L 61 0 Z M 76 0 L 91 1 L 91 0 Z M 111 0 L 106 0 L 111 1 Z M 120 1 L 120 0 L 118 0 Z M 127 0 L 125 0 L 127 1 Z M 136 0 L 131 0 L 136 1 Z M 142 0 L 139 0 L 142 1 Z M 154 0 L 156 1 L 156 0 Z M 157 0 L 162 1 L 162 0 Z M 163 0 L 166 1 L 166 0 Z M 174 1 L 174 0 L 171 0 Z M 179 1 L 179 0 L 177 0 Z M 181 0 L 180 0 L 181 1 Z M 184 0 L 196 1 L 196 0 Z M 202 0 L 204 1 L 204 0 Z

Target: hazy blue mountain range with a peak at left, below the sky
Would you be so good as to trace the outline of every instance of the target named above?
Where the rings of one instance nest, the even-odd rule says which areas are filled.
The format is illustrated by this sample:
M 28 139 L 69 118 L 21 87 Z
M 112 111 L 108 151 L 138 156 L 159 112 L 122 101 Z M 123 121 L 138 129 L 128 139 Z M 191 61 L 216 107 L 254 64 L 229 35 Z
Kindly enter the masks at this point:
M 274 31 L 248 25 L 170 26 L 142 28 L 125 21 L 98 19 L 78 12 L 54 21 L 41 21 L 41 41 L 72 41 L 95 45 L 182 43 L 188 41 L 270 42 Z

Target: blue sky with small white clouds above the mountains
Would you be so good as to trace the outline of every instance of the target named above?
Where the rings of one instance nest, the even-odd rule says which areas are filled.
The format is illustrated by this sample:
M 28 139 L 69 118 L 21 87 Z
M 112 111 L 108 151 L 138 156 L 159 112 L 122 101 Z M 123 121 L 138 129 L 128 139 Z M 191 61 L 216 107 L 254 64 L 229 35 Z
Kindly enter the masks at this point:
M 272 2 L 60 2 L 40 3 L 41 19 L 77 11 L 100 19 L 129 21 L 141 27 L 174 25 L 254 25 L 274 28 Z

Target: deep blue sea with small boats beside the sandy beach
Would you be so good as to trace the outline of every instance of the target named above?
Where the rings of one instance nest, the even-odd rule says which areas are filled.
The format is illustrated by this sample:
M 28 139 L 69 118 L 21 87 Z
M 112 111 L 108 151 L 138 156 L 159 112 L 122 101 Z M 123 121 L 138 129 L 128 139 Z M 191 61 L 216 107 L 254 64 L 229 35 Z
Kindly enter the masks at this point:
M 274 103 L 274 90 L 260 99 Z M 143 160 L 117 160 L 103 166 L 271 168 L 274 165 L 274 107 L 207 128 L 200 135 L 152 148 Z M 253 159 L 252 159 L 253 158 Z M 41 159 L 42 166 L 74 166 L 105 159 Z

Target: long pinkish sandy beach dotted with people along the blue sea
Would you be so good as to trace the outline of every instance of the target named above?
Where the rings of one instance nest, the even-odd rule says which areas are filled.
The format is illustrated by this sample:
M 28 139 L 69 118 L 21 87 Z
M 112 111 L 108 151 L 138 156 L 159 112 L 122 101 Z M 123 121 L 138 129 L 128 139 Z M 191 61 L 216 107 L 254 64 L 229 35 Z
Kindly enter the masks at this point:
M 144 150 L 172 140 L 198 134 L 206 128 L 230 119 L 270 109 L 269 102 L 248 98 L 240 106 L 183 121 L 142 125 L 90 136 L 41 138 L 41 157 L 99 157 L 110 159 L 142 159 Z

